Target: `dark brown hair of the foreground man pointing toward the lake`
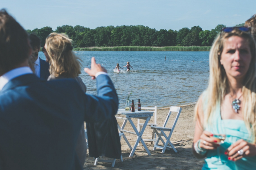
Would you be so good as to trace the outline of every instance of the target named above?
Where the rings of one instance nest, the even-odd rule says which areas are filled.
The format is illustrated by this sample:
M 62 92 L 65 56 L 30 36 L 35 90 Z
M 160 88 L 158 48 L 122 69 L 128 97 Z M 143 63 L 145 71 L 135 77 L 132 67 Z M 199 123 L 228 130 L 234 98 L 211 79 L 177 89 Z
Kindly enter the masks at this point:
M 0 10 L 0 75 L 16 68 L 30 53 L 28 34 L 5 9 Z

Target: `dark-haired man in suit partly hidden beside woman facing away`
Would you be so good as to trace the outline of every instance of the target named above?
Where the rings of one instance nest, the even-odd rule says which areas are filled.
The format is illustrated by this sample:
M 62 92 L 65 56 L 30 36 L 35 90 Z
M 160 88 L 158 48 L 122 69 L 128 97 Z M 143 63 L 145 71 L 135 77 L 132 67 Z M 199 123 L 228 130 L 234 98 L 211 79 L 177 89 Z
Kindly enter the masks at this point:
M 49 63 L 38 57 L 40 51 L 41 39 L 32 33 L 29 36 L 30 46 L 32 47 L 31 61 L 34 63 L 36 76 L 47 80 L 49 73 Z

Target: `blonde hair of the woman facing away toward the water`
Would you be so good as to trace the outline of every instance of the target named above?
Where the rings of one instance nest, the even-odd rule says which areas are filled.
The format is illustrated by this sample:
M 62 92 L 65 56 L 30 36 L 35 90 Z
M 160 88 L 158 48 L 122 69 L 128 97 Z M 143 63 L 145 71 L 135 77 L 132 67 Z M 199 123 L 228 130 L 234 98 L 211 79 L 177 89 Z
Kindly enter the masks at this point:
M 72 40 L 66 34 L 49 34 L 46 38 L 46 45 L 51 75 L 75 78 L 81 74 L 80 59 L 72 51 Z

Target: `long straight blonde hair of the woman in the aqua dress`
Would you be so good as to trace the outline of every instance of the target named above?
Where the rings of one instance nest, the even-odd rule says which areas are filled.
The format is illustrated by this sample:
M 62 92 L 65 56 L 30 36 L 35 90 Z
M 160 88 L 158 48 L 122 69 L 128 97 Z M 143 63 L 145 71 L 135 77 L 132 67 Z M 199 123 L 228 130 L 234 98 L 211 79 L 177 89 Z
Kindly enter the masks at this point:
M 216 105 L 221 103 L 224 99 L 224 96 L 228 93 L 229 84 L 228 78 L 225 72 L 224 67 L 220 64 L 220 56 L 224 48 L 224 41 L 232 36 L 238 36 L 245 38 L 249 44 L 251 52 L 251 62 L 249 69 L 245 74 L 242 95 L 243 95 L 243 120 L 245 125 L 255 142 L 256 135 L 256 117 L 255 117 L 255 108 L 256 108 L 256 51 L 255 51 L 255 42 L 249 33 L 240 31 L 239 29 L 234 29 L 230 33 L 221 32 L 213 42 L 212 48 L 209 55 L 209 64 L 210 64 L 210 78 L 208 88 L 206 89 L 207 96 L 203 101 L 207 101 L 206 113 L 204 113 L 203 120 L 199 119 L 198 110 L 199 102 L 195 107 L 195 118 L 199 119 L 201 124 L 207 125 L 210 123 L 211 117 L 216 110 Z M 201 105 L 202 106 L 202 105 Z

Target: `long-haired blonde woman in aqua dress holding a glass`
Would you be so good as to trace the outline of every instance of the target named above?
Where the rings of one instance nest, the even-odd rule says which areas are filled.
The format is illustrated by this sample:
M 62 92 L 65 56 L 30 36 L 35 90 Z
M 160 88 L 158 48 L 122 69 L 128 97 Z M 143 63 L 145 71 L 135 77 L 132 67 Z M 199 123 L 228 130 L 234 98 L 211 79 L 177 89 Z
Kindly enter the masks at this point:
M 210 50 L 209 85 L 195 108 L 192 147 L 195 156 L 206 157 L 202 169 L 256 167 L 256 54 L 249 31 L 224 28 Z M 226 135 L 224 143 L 214 135 Z

